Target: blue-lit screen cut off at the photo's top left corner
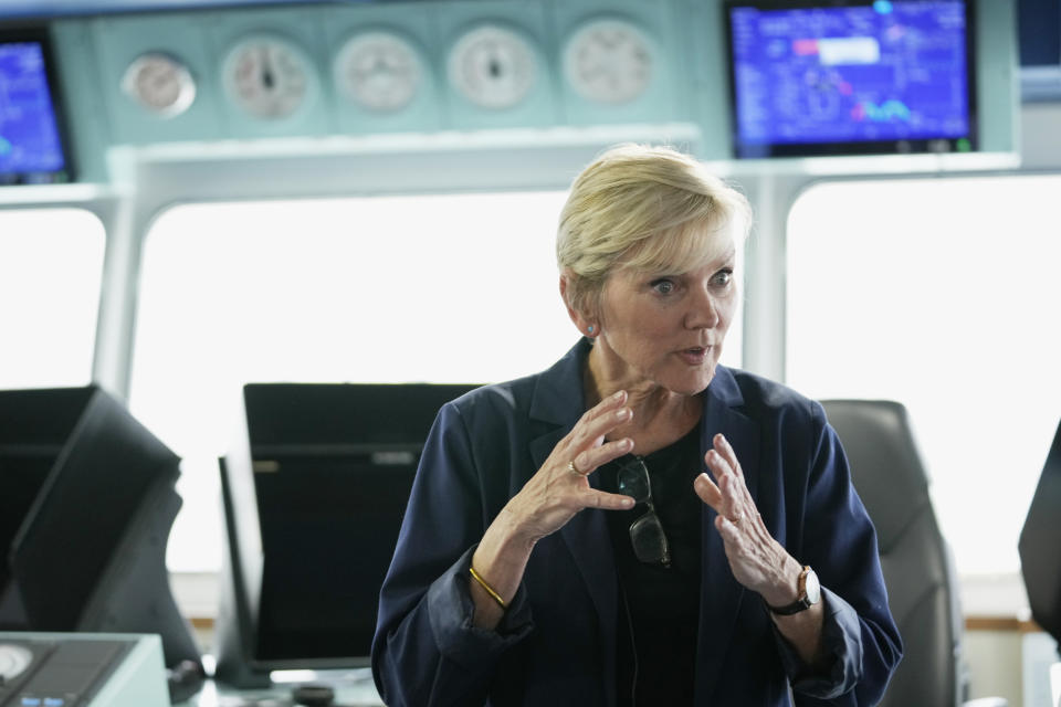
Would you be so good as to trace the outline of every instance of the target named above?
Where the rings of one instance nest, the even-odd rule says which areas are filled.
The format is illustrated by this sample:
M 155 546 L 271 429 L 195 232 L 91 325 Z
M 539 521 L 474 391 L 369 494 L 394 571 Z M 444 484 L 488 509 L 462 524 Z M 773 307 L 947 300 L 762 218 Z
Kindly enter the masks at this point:
M 0 186 L 70 181 L 72 169 L 43 29 L 0 29 Z

